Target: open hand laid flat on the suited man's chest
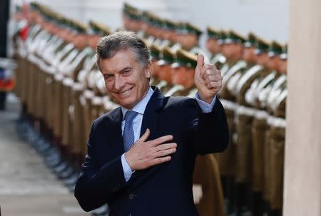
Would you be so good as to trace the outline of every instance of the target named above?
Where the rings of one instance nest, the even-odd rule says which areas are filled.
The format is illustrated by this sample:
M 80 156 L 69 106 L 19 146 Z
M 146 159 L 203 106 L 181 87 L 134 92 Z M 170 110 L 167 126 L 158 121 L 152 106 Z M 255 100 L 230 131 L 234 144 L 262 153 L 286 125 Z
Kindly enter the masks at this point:
M 169 161 L 170 154 L 176 152 L 176 143 L 167 143 L 173 140 L 173 135 L 164 135 L 155 140 L 146 141 L 151 131 L 149 129 L 125 153 L 125 159 L 131 170 L 144 170 L 153 165 Z

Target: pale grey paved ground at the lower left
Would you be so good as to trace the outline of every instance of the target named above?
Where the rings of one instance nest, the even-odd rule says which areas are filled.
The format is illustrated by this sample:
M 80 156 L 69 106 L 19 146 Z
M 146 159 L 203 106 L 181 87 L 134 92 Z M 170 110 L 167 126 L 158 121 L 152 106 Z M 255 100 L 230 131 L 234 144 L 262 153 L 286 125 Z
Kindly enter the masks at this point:
M 0 111 L 0 206 L 2 216 L 81 216 L 73 195 L 16 135 L 19 103 L 10 95 Z

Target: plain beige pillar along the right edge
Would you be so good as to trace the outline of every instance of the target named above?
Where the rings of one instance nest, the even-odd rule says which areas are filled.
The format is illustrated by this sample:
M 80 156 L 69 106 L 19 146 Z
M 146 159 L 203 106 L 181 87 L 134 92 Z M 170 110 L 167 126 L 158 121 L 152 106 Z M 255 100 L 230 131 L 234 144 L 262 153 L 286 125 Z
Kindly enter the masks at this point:
M 321 215 L 320 8 L 320 0 L 290 3 L 285 216 Z

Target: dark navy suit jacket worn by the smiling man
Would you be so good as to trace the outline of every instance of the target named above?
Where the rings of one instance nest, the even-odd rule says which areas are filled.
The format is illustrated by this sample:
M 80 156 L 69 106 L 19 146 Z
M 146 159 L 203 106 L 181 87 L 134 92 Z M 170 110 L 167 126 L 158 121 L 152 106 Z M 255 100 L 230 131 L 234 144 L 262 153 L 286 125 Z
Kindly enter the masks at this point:
M 164 97 L 156 90 L 143 115 L 141 135 L 148 140 L 173 135 L 176 153 L 169 162 L 136 170 L 126 182 L 121 165 L 124 153 L 121 108 L 93 122 L 88 155 L 76 183 L 75 197 L 83 210 L 108 204 L 110 216 L 195 216 L 193 170 L 198 154 L 215 153 L 228 146 L 228 124 L 217 99 L 211 113 L 200 113 L 195 99 Z

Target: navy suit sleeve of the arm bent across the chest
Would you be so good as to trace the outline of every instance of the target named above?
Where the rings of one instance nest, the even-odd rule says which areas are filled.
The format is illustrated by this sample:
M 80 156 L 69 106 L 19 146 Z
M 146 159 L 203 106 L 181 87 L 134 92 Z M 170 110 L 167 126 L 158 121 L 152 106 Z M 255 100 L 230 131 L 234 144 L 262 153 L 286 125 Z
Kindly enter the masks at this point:
M 89 212 L 111 202 L 113 198 L 126 187 L 123 176 L 121 156 L 99 167 L 95 151 L 95 122 L 91 126 L 88 138 L 88 153 L 86 160 L 81 165 L 81 174 L 75 187 L 75 197 L 79 205 Z

